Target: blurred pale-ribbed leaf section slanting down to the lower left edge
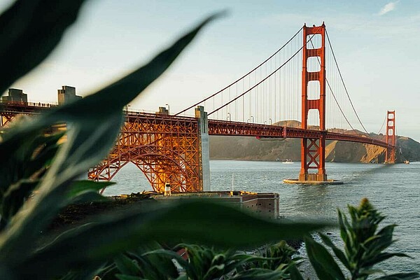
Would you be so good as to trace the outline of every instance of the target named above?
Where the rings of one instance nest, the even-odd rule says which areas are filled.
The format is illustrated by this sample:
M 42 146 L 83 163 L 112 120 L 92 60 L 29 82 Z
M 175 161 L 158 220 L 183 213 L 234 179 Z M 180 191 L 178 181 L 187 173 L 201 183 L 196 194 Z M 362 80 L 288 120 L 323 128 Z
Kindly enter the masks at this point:
M 66 190 L 71 181 L 106 156 L 116 139 L 121 114 L 108 116 L 106 120 L 98 123 L 93 131 L 73 125 L 67 132 L 67 141 L 60 148 L 55 164 L 45 174 L 38 194 L 0 235 L 0 262 L 20 262 L 22 255 L 28 255 L 41 232 L 59 213 L 62 202 L 68 200 Z M 80 145 L 80 141 L 85 144 Z

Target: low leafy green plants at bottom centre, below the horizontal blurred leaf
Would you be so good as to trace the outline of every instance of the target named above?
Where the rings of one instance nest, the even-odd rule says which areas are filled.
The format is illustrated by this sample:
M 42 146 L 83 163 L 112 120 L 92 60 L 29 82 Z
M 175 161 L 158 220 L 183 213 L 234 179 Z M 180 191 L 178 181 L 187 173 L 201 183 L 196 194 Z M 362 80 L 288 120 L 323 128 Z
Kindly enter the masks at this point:
M 283 244 L 281 245 L 282 247 Z M 273 246 L 279 248 L 279 246 Z M 120 255 L 114 264 L 100 272 L 102 279 L 302 279 L 289 258 L 289 251 L 277 251 L 273 257 L 238 253 L 197 244 L 179 244 L 173 250 L 162 248 L 136 251 Z M 275 256 L 274 256 L 275 255 Z M 179 275 L 172 260 L 182 272 Z M 279 261 L 279 266 L 262 267 L 259 264 Z M 287 264 L 285 262 L 288 262 Z M 290 270 L 290 271 L 289 271 Z

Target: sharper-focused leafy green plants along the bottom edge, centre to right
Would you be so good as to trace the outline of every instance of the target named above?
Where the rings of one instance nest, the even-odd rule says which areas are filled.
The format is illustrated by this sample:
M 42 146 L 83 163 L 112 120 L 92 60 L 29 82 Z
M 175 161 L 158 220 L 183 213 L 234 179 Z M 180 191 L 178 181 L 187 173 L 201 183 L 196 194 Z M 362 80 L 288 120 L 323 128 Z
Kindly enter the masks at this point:
M 393 243 L 393 228 L 386 225 L 379 229 L 382 216 L 372 204 L 363 199 L 359 207 L 349 206 L 351 221 L 338 211 L 339 225 L 344 251 L 332 243 L 327 235 L 319 233 L 323 244 L 330 247 L 337 260 L 346 267 L 344 272 L 336 259 L 323 244 L 311 237 L 304 242 L 312 267 L 319 279 L 364 280 L 377 276 L 384 279 L 419 279 L 419 273 L 396 273 L 386 275 L 374 266 L 392 257 L 407 257 L 404 253 L 388 253 L 386 248 Z M 180 250 L 181 249 L 181 250 Z M 295 250 L 285 241 L 253 254 L 237 251 L 221 251 L 207 246 L 179 244 L 173 250 L 157 246 L 137 253 L 127 252 L 114 259 L 99 275 L 102 279 L 292 279 L 303 280 L 298 266 L 301 258 L 296 258 Z M 186 258 L 183 258 L 186 257 Z M 181 274 L 171 260 L 181 267 Z M 372 279 L 372 278 L 370 278 Z

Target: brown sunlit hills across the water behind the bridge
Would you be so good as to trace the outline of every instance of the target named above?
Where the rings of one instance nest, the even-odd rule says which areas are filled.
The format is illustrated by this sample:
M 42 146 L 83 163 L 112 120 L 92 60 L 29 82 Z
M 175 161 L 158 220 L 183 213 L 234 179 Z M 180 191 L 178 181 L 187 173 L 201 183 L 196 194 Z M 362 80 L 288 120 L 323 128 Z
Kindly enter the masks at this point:
M 289 126 L 300 123 L 287 121 Z M 277 125 L 286 125 L 286 122 Z M 335 131 L 342 132 L 342 131 Z M 363 134 L 362 132 L 359 132 Z M 383 139 L 384 135 L 370 134 Z M 420 143 L 408 137 L 398 137 L 397 161 L 420 161 Z M 300 139 L 256 139 L 255 137 L 210 137 L 212 160 L 286 160 L 300 161 Z M 360 143 L 327 141 L 325 160 L 328 162 L 384 162 L 385 149 Z

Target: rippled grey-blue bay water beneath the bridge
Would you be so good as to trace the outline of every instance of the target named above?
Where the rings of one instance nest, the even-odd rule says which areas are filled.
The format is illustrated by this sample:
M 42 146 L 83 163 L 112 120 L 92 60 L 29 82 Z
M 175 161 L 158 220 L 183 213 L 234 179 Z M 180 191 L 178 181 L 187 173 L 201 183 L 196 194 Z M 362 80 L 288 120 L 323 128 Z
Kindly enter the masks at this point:
M 344 181 L 335 186 L 300 186 L 283 183 L 295 179 L 300 162 L 249 162 L 217 160 L 210 162 L 211 190 L 248 190 L 280 194 L 279 211 L 286 218 L 325 218 L 337 221 L 337 208 L 346 212 L 348 204 L 358 205 L 367 197 L 387 216 L 383 224 L 396 223 L 391 251 L 414 257 L 394 258 L 381 266 L 387 272 L 420 272 L 420 162 L 409 165 L 371 165 L 327 163 L 329 179 Z M 233 186 L 232 186 L 233 177 Z M 105 195 L 151 190 L 144 174 L 127 165 L 113 179 L 115 186 Z M 338 230 L 330 230 L 333 241 L 340 243 Z M 304 250 L 302 251 L 304 255 Z M 309 273 L 308 276 L 313 275 Z

